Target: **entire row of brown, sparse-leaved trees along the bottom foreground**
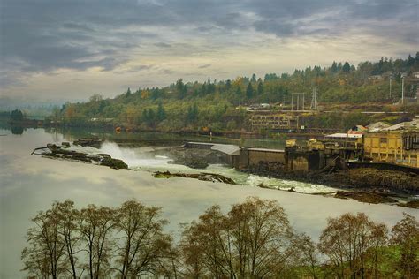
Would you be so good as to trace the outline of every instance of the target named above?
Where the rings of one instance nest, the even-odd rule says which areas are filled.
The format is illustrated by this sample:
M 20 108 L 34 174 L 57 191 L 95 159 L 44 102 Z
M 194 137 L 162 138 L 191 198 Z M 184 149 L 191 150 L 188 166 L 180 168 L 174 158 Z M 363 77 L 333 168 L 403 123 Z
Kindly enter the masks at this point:
M 293 230 L 273 200 L 223 213 L 209 207 L 175 241 L 160 207 L 55 202 L 27 230 L 24 270 L 36 278 L 418 278 L 419 222 L 405 214 L 389 234 L 362 213 L 328 219 L 318 244 Z

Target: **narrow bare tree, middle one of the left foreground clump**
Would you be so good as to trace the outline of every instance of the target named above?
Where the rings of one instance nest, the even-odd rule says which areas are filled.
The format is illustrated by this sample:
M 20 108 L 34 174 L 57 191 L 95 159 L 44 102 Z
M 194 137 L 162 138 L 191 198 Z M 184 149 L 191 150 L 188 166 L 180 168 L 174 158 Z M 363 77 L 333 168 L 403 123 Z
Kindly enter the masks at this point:
M 88 253 L 87 269 L 91 279 L 102 278 L 110 271 L 115 215 L 115 209 L 95 205 L 80 211 L 80 233 Z

